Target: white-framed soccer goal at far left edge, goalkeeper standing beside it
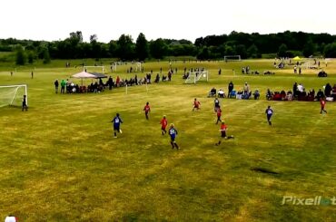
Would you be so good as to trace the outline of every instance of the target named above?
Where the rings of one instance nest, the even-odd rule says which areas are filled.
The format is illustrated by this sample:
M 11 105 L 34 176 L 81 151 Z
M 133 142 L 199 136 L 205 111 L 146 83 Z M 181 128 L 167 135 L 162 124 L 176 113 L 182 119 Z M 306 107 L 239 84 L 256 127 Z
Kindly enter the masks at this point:
M 21 106 L 24 95 L 28 105 L 27 85 L 2 85 L 0 86 L 0 107 Z

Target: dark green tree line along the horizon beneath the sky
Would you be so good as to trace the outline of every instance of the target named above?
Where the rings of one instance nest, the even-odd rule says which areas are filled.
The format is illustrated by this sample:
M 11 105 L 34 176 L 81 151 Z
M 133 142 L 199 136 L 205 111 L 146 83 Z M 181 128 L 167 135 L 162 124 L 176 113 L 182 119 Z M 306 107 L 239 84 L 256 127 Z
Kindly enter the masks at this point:
M 0 39 L 0 52 L 16 52 L 16 63 L 34 63 L 42 59 L 117 58 L 121 61 L 145 61 L 163 59 L 166 56 L 193 56 L 200 60 L 222 59 L 225 55 L 239 54 L 245 58 L 323 56 L 336 57 L 336 35 L 310 34 L 286 31 L 278 34 L 231 34 L 208 35 L 194 43 L 188 40 L 158 38 L 148 41 L 139 34 L 135 42 L 131 35 L 122 34 L 109 43 L 98 41 L 96 34 L 90 41 L 83 41 L 81 31 L 69 34 L 60 41 Z

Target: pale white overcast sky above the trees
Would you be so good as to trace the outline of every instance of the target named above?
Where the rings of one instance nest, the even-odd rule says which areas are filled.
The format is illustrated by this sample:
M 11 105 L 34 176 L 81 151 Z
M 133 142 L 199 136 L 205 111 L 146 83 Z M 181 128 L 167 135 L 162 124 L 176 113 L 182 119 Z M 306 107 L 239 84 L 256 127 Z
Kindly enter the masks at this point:
M 139 33 L 147 40 L 286 30 L 336 34 L 332 0 L 2 0 L 0 38 L 64 40 L 82 31 L 99 42 Z

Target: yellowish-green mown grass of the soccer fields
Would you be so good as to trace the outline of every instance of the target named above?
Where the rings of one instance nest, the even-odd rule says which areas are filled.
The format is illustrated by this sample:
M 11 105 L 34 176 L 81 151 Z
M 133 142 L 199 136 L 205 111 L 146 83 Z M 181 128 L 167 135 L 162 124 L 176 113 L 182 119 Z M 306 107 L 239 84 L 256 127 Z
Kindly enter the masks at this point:
M 1 68 L 0 84 L 28 84 L 29 111 L 0 108 L 0 218 L 20 221 L 334 221 L 336 206 L 282 205 L 283 196 L 332 198 L 335 193 L 336 103 L 320 115 L 319 102 L 265 101 L 264 93 L 290 90 L 293 82 L 318 90 L 336 83 L 336 61 L 325 69 L 293 75 L 274 70 L 272 60 L 237 63 L 173 63 L 173 82 L 114 89 L 97 94 L 55 94 L 54 80 L 79 68 L 64 61 L 21 67 L 10 76 Z M 75 61 L 73 63 L 80 63 Z M 93 61 L 90 63 L 94 63 Z M 144 63 L 154 73 L 167 62 Z M 276 72 L 242 75 L 241 67 Z M 183 84 L 183 67 L 206 67 L 210 82 Z M 118 68 L 126 73 L 128 66 Z M 222 68 L 222 75 L 217 71 Z M 233 75 L 232 69 L 236 71 Z M 110 73 L 109 73 L 110 74 Z M 113 73 L 115 77 L 117 75 Z M 138 74 L 143 77 L 143 73 Z M 259 101 L 221 100 L 223 120 L 234 140 L 220 139 L 215 125 L 212 86 L 228 82 L 262 92 Z M 78 80 L 74 80 L 79 82 Z M 90 80 L 85 83 L 91 82 Z M 192 112 L 193 98 L 202 102 Z M 150 121 L 143 106 L 152 106 Z M 275 111 L 273 127 L 265 120 Z M 110 121 L 119 112 L 123 134 L 113 138 Z M 179 130 L 182 150 L 171 150 L 159 121 L 166 115 Z M 277 174 L 252 169 L 265 169 Z

